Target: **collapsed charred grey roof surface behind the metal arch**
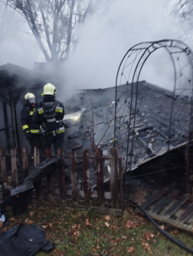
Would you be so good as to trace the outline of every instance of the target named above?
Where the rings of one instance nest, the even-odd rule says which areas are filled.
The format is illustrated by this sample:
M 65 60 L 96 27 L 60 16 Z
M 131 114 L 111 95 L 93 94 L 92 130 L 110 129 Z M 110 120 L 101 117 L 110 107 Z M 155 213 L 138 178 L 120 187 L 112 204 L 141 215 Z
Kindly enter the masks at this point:
M 172 91 L 149 84 L 145 80 L 140 81 L 138 87 L 136 124 L 129 134 L 128 156 L 132 152 L 132 169 L 136 169 L 139 165 L 155 157 L 162 156 L 168 150 L 181 146 L 182 143 L 187 143 L 189 129 L 190 98 L 188 96 L 182 94 L 175 100 L 172 126 L 170 127 Z M 91 95 L 94 126 L 92 125 Z M 124 97 L 122 97 L 123 95 Z M 80 94 L 74 95 L 66 103 L 66 112 L 78 108 L 84 110 L 79 120 L 65 120 L 69 126 L 67 136 L 71 139 L 80 136 L 86 130 L 91 130 L 91 142 L 93 142 L 94 132 L 95 147 L 102 147 L 103 154 L 109 155 L 114 136 L 114 99 L 115 87 L 84 90 Z M 123 165 L 126 166 L 131 84 L 117 87 L 117 99 L 119 104 L 116 115 L 116 147 L 119 156 L 123 158 Z M 132 122 L 134 114 L 131 113 Z M 133 127 L 132 123 L 130 123 L 130 127 Z M 171 138 L 168 144 L 169 132 Z M 132 133 L 134 133 L 133 151 L 131 151 Z M 83 144 L 83 147 L 86 148 L 90 144 L 89 142 L 88 133 L 83 133 L 74 140 L 74 143 L 71 143 L 70 148 L 78 144 Z M 70 150 L 70 148 L 68 149 Z

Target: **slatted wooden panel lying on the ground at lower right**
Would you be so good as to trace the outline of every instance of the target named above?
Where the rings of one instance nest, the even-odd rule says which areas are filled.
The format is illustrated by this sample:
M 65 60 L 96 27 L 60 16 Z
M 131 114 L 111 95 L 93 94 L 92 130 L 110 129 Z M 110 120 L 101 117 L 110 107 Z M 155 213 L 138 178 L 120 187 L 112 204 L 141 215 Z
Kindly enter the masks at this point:
M 193 203 L 191 195 L 178 196 L 178 191 L 168 193 L 164 188 L 140 205 L 152 218 L 193 235 Z

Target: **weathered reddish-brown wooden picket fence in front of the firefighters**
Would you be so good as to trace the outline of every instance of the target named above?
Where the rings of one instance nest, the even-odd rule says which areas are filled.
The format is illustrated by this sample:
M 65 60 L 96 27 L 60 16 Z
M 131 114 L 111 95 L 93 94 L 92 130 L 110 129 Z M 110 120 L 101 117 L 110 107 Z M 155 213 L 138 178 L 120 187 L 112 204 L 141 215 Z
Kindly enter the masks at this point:
M 84 149 L 83 156 L 77 156 L 76 151 L 72 152 L 70 156 L 64 156 L 64 150 L 58 149 L 57 155 L 62 157 L 62 166 L 58 169 L 58 185 L 60 192 L 60 199 L 62 202 L 71 202 L 74 205 L 84 204 L 91 205 L 92 199 L 98 207 L 104 208 L 106 205 L 111 208 L 123 209 L 123 167 L 122 159 L 117 157 L 115 148 L 110 149 L 110 157 L 103 156 L 102 149 L 96 149 L 95 156 L 90 156 L 90 150 Z M 18 157 L 21 159 L 22 170 L 25 177 L 28 176 L 28 150 L 22 149 L 21 155 L 16 154 L 16 149 L 11 149 L 11 154 L 5 154 L 5 148 L 0 148 L 0 162 L 2 170 L 2 181 L 8 180 L 6 158 L 11 158 L 11 183 L 14 187 L 18 186 Z M 34 167 L 40 163 L 40 153 L 38 149 L 34 149 Z M 46 150 L 45 158 L 51 156 L 51 150 Z M 71 189 L 65 188 L 65 172 L 64 161 L 70 159 L 70 172 L 71 172 Z M 78 188 L 77 184 L 77 159 L 83 161 L 83 190 Z M 96 166 L 96 185 L 97 191 L 93 190 L 90 185 L 90 159 L 93 159 Z M 104 178 L 103 178 L 103 161 L 110 160 L 110 191 L 104 191 Z M 41 182 L 36 184 L 36 200 L 43 201 Z M 84 198 L 84 200 L 80 200 Z M 47 201 L 54 202 L 54 185 L 52 174 L 47 175 Z

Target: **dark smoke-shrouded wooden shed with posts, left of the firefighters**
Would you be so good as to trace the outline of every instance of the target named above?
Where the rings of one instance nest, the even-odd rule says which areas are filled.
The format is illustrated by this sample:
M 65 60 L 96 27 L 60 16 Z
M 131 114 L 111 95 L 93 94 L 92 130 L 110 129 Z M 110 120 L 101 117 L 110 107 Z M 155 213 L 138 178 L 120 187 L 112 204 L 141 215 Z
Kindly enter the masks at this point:
M 2 119 L 5 123 L 4 127 L 0 127 L 0 132 L 5 133 L 8 152 L 10 152 L 11 147 L 15 147 L 16 153 L 21 153 L 18 136 L 18 114 L 20 115 L 20 113 L 16 112 L 21 96 L 26 94 L 28 90 L 40 90 L 47 81 L 48 79 L 44 74 L 30 71 L 24 67 L 14 64 L 0 66 L 0 102 L 2 101 Z M 10 107 L 10 113 L 8 107 Z M 9 116 L 11 116 L 10 124 Z

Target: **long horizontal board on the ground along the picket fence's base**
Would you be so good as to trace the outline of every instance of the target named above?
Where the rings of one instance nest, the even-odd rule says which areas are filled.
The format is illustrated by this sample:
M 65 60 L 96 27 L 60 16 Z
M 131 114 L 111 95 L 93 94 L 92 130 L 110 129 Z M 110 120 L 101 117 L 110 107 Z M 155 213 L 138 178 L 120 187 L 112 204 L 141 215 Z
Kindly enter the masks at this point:
M 95 206 L 90 206 L 90 205 L 73 205 L 73 204 L 61 204 L 57 202 L 33 202 L 33 205 L 39 205 L 39 206 L 47 206 L 47 207 L 62 207 L 62 208 L 81 208 L 81 209 L 88 209 L 92 212 L 96 212 L 102 215 L 116 215 L 117 217 L 122 216 L 122 211 L 121 209 L 117 208 L 101 208 L 101 207 L 95 207 Z

